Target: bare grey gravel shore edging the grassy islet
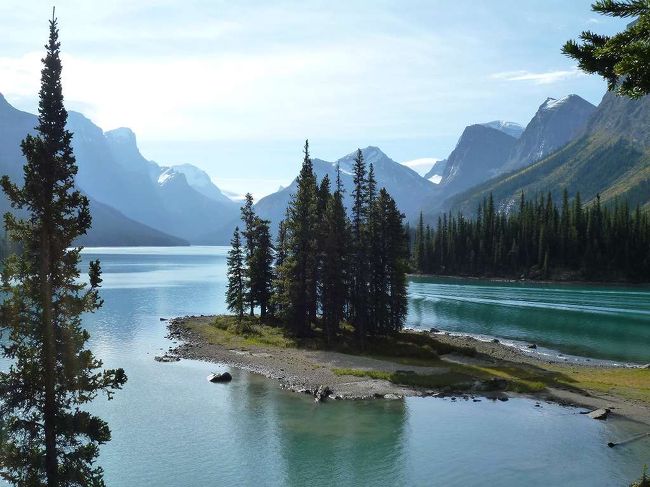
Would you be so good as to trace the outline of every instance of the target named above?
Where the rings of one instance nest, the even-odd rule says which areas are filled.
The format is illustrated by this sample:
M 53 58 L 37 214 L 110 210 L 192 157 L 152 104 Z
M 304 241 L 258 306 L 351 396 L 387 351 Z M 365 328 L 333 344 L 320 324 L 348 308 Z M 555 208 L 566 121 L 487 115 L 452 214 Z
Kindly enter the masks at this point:
M 517 394 L 508 392 L 487 392 L 472 390 L 454 392 L 440 390 L 423 390 L 404 387 L 386 380 L 367 377 L 336 375 L 333 369 L 351 368 L 397 372 L 413 371 L 418 374 L 432 374 L 444 371 L 442 367 L 422 367 L 402 365 L 395 362 L 378 360 L 370 357 L 348 355 L 326 350 L 304 350 L 295 348 L 277 348 L 250 346 L 245 349 L 230 349 L 222 345 L 208 343 L 199 332 L 188 326 L 207 325 L 214 320 L 212 316 L 185 316 L 168 322 L 167 338 L 180 344 L 156 360 L 173 362 L 180 359 L 202 360 L 241 368 L 279 381 L 282 388 L 297 393 L 317 395 L 317 399 L 400 399 L 405 396 L 451 397 L 480 401 L 482 399 L 506 401 L 510 397 L 527 397 L 536 401 L 548 401 L 567 406 L 582 407 L 589 410 L 609 409 L 613 416 L 624 417 L 639 423 L 650 425 L 650 408 L 648 404 L 618 397 L 613 394 L 583 391 L 576 393 L 564 389 L 547 389 L 540 393 Z M 417 332 L 414 332 L 417 333 Z M 449 354 L 442 357 L 448 363 L 469 365 L 499 364 L 514 362 L 544 368 L 549 363 L 556 367 L 583 367 L 606 365 L 597 364 L 563 364 L 561 360 L 548 360 L 533 354 L 504 345 L 498 341 L 483 341 L 470 336 L 451 335 L 441 332 L 432 333 L 436 340 L 458 346 L 476 348 L 477 357 Z M 650 376 L 650 371 L 649 371 Z

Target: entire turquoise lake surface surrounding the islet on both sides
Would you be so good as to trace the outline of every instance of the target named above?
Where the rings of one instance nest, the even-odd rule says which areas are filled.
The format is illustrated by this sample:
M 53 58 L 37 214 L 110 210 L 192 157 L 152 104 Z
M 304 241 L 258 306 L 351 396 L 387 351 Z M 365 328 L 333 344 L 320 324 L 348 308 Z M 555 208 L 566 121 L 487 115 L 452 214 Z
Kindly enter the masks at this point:
M 91 346 L 129 382 L 97 401 L 113 441 L 109 486 L 485 485 L 616 486 L 650 463 L 650 442 L 610 449 L 639 430 L 576 409 L 404 401 L 314 404 L 275 381 L 153 357 L 167 349 L 160 317 L 225 311 L 224 247 L 87 249 L 99 258 L 104 307 L 88 316 Z M 416 279 L 409 325 L 534 341 L 565 353 L 650 361 L 648 290 Z M 6 366 L 0 361 L 0 367 Z

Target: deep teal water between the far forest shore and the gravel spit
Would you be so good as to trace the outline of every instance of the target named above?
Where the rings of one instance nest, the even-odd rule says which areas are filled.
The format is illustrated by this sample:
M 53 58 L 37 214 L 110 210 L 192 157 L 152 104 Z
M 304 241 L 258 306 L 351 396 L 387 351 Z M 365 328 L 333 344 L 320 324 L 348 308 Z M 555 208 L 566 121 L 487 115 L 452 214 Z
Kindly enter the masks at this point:
M 650 287 L 414 277 L 408 324 L 650 363 Z

